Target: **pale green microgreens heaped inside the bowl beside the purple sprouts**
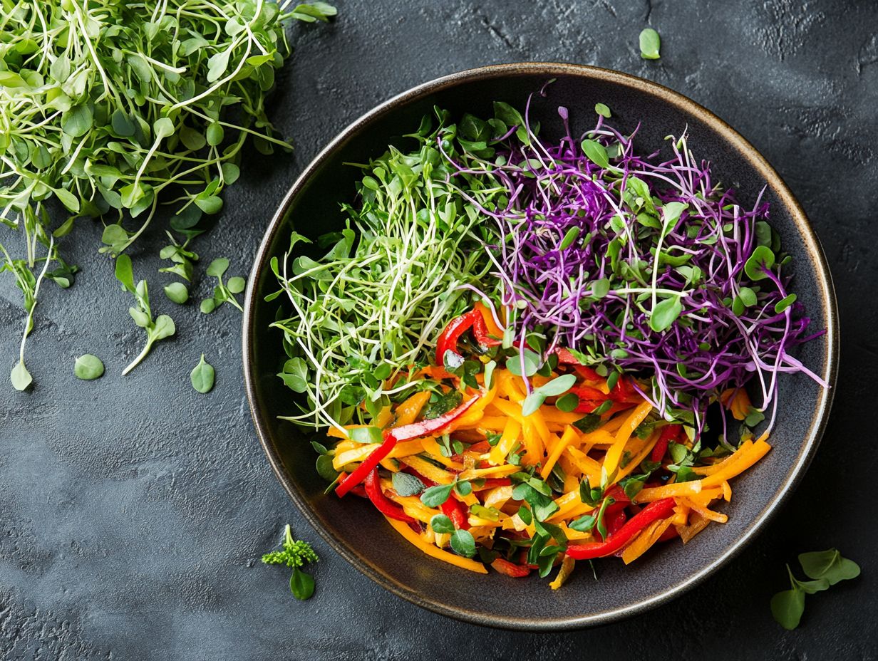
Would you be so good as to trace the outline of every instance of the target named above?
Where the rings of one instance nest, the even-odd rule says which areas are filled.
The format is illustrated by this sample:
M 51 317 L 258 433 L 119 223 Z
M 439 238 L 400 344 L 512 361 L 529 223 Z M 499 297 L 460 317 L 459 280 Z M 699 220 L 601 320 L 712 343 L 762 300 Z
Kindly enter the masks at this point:
M 498 104 L 496 113 L 504 127 L 521 121 L 516 126 L 527 137 L 517 111 Z M 364 421 L 355 405 L 414 387 L 372 383 L 371 372 L 385 363 L 398 374 L 421 361 L 448 320 L 471 307 L 462 286 L 489 273 L 484 245 L 495 231 L 479 205 L 505 204 L 499 179 L 481 164 L 493 154 L 493 135 L 486 121 L 454 124 L 437 110 L 408 134 L 408 147 L 361 166 L 359 198 L 342 206 L 340 232 L 314 242 L 291 233 L 284 258 L 271 262 L 281 289 L 267 297 L 284 296 L 284 315 L 273 326 L 284 332 L 291 357 L 306 361 L 308 404 L 289 420 L 318 427 Z M 446 157 L 479 172 L 453 173 Z

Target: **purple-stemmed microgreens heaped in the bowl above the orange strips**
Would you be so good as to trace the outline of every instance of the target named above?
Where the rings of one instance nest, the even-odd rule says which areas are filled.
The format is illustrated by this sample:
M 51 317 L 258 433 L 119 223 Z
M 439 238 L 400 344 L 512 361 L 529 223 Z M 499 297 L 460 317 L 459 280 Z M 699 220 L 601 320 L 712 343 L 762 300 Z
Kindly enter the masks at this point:
M 568 111 L 559 113 L 567 121 Z M 686 134 L 668 136 L 669 158 L 638 154 L 637 131 L 619 132 L 603 118 L 572 138 L 532 134 L 525 144 L 509 134 L 498 147 L 514 200 L 485 209 L 504 237 L 486 241 L 496 298 L 513 312 L 503 346 L 536 354 L 509 356 L 508 368 L 546 376 L 546 351 L 563 347 L 608 379 L 658 370 L 644 395 L 666 420 L 685 409 L 696 436 L 708 406 L 751 378 L 764 384 L 759 410 L 768 411 L 776 374 L 803 371 L 789 349 L 807 337 L 809 322 L 790 313 L 795 298 L 790 277 L 774 266 L 783 262 L 775 257 L 780 237 L 766 223 L 762 195 L 745 206 L 737 191 L 723 190 Z M 788 323 L 778 323 L 781 313 Z M 572 404 L 558 402 L 562 410 Z

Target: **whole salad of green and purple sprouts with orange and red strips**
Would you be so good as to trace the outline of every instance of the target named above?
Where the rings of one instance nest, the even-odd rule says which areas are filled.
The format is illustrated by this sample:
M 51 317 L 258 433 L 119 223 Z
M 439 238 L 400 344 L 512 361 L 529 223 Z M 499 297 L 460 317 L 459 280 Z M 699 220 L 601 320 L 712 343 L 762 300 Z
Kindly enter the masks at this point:
M 598 104 L 544 140 L 529 106 L 435 109 L 359 164 L 343 228 L 293 232 L 269 298 L 327 493 L 428 556 L 558 588 L 727 521 L 781 373 L 826 384 L 791 353 L 822 333 L 761 192 L 739 202 L 685 133 L 644 153 Z

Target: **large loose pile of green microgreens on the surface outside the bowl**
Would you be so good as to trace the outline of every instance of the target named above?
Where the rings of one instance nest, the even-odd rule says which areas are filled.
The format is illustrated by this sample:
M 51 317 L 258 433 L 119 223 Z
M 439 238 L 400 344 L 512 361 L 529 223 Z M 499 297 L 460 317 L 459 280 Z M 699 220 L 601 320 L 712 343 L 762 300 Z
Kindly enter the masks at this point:
M 188 240 L 202 231 L 196 225 L 203 213 L 219 212 L 248 138 L 263 153 L 290 147 L 275 137 L 265 104 L 291 53 L 284 22 L 335 14 L 325 3 L 290 6 L 0 5 L 0 222 L 18 230 L 25 247 L 23 260 L 3 248 L 0 269 L 14 263 L 8 270 L 26 283 L 29 320 L 41 261 L 67 271 L 52 277 L 57 284 L 72 283 L 76 269 L 65 269 L 51 240 L 73 232 L 76 219 L 103 218 L 101 252 L 119 255 L 163 202 L 175 205 L 170 226 Z M 46 211 L 55 201 L 70 214 L 60 223 Z M 188 279 L 187 260 L 171 268 Z M 22 269 L 30 274 L 25 280 Z M 30 383 L 23 351 L 15 375 L 16 387 Z

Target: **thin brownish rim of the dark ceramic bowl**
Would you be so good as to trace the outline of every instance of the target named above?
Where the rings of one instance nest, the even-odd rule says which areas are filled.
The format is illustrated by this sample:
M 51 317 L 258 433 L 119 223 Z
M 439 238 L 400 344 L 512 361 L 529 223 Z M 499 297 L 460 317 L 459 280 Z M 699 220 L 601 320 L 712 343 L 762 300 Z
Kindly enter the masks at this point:
M 827 358 L 824 367 L 823 377 L 830 385 L 820 393 L 817 408 L 812 417 L 809 434 L 802 442 L 802 447 L 795 462 L 788 471 L 787 478 L 772 498 L 767 502 L 766 507 L 750 522 L 749 526 L 736 540 L 730 543 L 729 547 L 716 559 L 703 566 L 700 570 L 694 572 L 691 576 L 685 578 L 679 583 L 667 587 L 661 593 L 652 597 L 640 600 L 637 603 L 629 604 L 621 607 L 610 608 L 598 613 L 576 615 L 572 617 L 546 618 L 540 620 L 527 620 L 517 617 L 503 617 L 493 614 L 484 614 L 477 611 L 464 609 L 461 607 L 451 607 L 441 600 L 434 600 L 428 594 L 415 593 L 409 587 L 397 581 L 394 577 L 379 571 L 373 567 L 365 558 L 360 557 L 356 550 L 349 548 L 341 539 L 336 537 L 330 530 L 324 528 L 323 524 L 312 513 L 306 499 L 299 493 L 292 483 L 291 478 L 284 471 L 281 457 L 277 453 L 274 444 L 270 442 L 270 433 L 268 425 L 262 419 L 258 406 L 256 404 L 255 381 L 258 377 L 254 373 L 254 352 L 253 337 L 256 333 L 254 325 L 255 321 L 255 284 L 261 276 L 263 269 L 267 266 L 268 251 L 270 245 L 274 242 L 277 233 L 283 225 L 283 220 L 288 212 L 292 200 L 299 194 L 308 180 L 313 176 L 315 171 L 319 169 L 320 164 L 332 154 L 335 149 L 341 147 L 349 138 L 369 126 L 375 119 L 385 116 L 385 114 L 394 111 L 400 104 L 405 104 L 420 97 L 428 96 L 436 91 L 454 87 L 460 83 L 469 83 L 472 81 L 485 80 L 490 78 L 502 77 L 506 75 L 545 75 L 547 77 L 555 75 L 574 75 L 591 79 L 599 79 L 608 83 L 615 83 L 627 88 L 633 88 L 640 92 L 647 92 L 653 97 L 659 98 L 660 101 L 671 104 L 681 111 L 686 111 L 698 116 L 702 121 L 711 126 L 717 133 L 720 133 L 725 140 L 729 142 L 731 147 L 738 154 L 750 161 L 761 176 L 764 177 L 766 183 L 769 183 L 781 203 L 785 205 L 795 226 L 802 234 L 803 243 L 807 250 L 810 261 L 817 269 L 817 284 L 819 288 L 818 295 L 824 301 L 827 311 L 826 323 L 826 339 L 827 339 Z M 829 418 L 832 399 L 835 391 L 836 377 L 838 374 L 838 309 L 836 305 L 835 291 L 832 284 L 832 277 L 829 266 L 826 262 L 824 250 L 817 239 L 810 221 L 806 216 L 802 205 L 798 203 L 784 183 L 777 171 L 766 161 L 766 158 L 753 147 L 749 141 L 729 126 L 723 119 L 717 117 L 713 112 L 704 108 L 701 104 L 695 103 L 692 99 L 671 90 L 659 83 L 645 80 L 636 75 L 624 74 L 613 69 L 599 68 L 587 65 L 569 64 L 564 62 L 519 62 L 508 64 L 495 64 L 478 68 L 470 68 L 464 71 L 443 75 L 427 83 L 421 83 L 413 88 L 403 91 L 398 95 L 387 99 L 385 102 L 378 104 L 370 111 L 365 112 L 362 116 L 355 119 L 338 133 L 333 140 L 330 140 L 326 147 L 323 147 L 316 154 L 312 161 L 308 163 L 301 174 L 292 183 L 290 190 L 287 191 L 283 201 L 277 208 L 274 216 L 270 220 L 270 224 L 266 229 L 259 248 L 255 256 L 253 269 L 248 279 L 244 314 L 242 320 L 242 356 L 244 382 L 247 391 L 248 404 L 250 413 L 259 442 L 263 446 L 266 456 L 268 456 L 272 470 L 275 472 L 277 479 L 284 489 L 289 493 L 290 498 L 299 507 L 299 511 L 305 517 L 306 521 L 314 528 L 318 534 L 345 560 L 352 564 L 358 571 L 365 576 L 371 578 L 379 586 L 384 587 L 391 593 L 396 594 L 403 599 L 414 603 L 417 606 L 427 608 L 437 614 L 450 616 L 460 621 L 466 621 L 481 626 L 489 626 L 497 629 L 513 629 L 513 630 L 530 630 L 530 631 L 557 631 L 569 629 L 581 629 L 587 626 L 607 624 L 612 621 L 618 621 L 634 614 L 644 613 L 645 611 L 667 603 L 678 597 L 680 594 L 702 583 L 714 571 L 719 569 L 723 564 L 728 563 L 733 557 L 738 556 L 745 546 L 765 528 L 766 523 L 774 518 L 774 515 L 787 502 L 790 494 L 795 490 L 808 468 L 813 458 L 820 439 L 824 434 L 824 430 Z

